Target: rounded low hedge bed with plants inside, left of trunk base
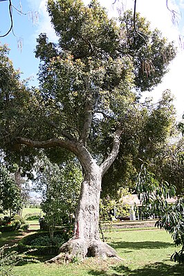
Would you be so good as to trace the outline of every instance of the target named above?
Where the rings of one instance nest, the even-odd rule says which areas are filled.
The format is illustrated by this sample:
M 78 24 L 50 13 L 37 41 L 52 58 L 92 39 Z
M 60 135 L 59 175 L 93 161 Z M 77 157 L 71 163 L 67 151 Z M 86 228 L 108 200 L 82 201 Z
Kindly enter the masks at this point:
M 49 232 L 37 232 L 21 239 L 18 243 L 18 250 L 25 252 L 36 249 L 34 255 L 57 255 L 59 247 L 68 239 L 66 230 L 56 231 L 53 241 L 50 241 Z M 43 246 L 43 244 L 45 245 Z

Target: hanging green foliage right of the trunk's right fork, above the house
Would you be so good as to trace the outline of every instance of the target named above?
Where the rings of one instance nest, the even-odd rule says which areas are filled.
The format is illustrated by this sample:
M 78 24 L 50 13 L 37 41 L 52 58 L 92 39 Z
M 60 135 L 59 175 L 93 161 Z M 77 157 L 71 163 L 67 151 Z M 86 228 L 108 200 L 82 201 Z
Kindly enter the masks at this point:
M 167 140 L 174 133 L 175 119 L 172 100 L 170 91 L 165 91 L 158 104 L 154 105 L 151 99 L 146 100 L 143 105 L 137 103 L 136 107 L 139 110 L 134 108 L 134 113 L 130 113 L 130 116 L 127 115 L 127 120 L 123 125 L 118 158 L 102 179 L 103 196 L 107 194 L 115 196 L 117 190 L 122 186 L 129 186 L 134 190 L 136 175 L 140 172 L 142 160 L 147 162 L 157 175 L 159 172 L 160 178 L 174 185 L 177 182 L 178 185 L 181 183 L 182 186 L 182 167 L 177 169 L 178 174 L 175 174 L 173 182 L 169 181 L 168 163 L 163 163 L 164 156 L 168 156 L 170 151 L 168 149 L 165 152 L 168 145 Z M 107 138 L 106 142 L 108 144 Z M 172 156 L 169 160 L 172 163 Z M 170 170 L 173 176 L 174 169 Z M 113 183 L 113 185 L 109 185 L 109 183 Z

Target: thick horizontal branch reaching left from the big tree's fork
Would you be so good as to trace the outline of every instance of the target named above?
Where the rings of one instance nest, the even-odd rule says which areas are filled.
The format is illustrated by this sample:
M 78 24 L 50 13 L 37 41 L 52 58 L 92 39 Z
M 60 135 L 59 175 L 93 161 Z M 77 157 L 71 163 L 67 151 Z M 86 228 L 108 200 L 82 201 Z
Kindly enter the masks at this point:
M 31 140 L 27 138 L 17 137 L 16 142 L 19 144 L 27 145 L 28 147 L 37 147 L 37 148 L 48 148 L 48 147 L 63 147 L 64 149 L 68 149 L 72 151 L 74 154 L 78 154 L 77 152 L 77 144 L 75 141 L 62 140 L 58 138 L 46 140 L 46 141 L 37 141 Z

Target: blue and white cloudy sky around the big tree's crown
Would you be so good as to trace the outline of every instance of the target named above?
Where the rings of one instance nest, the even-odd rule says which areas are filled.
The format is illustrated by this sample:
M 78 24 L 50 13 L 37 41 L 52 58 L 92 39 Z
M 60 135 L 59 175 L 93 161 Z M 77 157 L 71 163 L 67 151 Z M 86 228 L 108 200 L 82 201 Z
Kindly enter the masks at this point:
M 100 0 L 102 6 L 107 8 L 109 16 L 117 15 L 117 7 L 120 10 L 134 9 L 134 0 Z M 84 0 L 88 4 L 89 0 Z M 169 41 L 174 40 L 178 46 L 178 54 L 169 66 L 169 73 L 163 77 L 163 82 L 159 84 L 154 91 L 144 93 L 143 98 L 153 97 L 158 101 L 165 89 L 171 89 L 174 94 L 174 105 L 176 107 L 177 118 L 181 119 L 184 113 L 184 44 L 179 42 L 179 36 L 184 37 L 184 0 L 168 0 L 170 10 L 178 12 L 178 24 L 172 23 L 171 12 L 167 10 L 165 0 L 137 0 L 137 12 L 151 22 L 151 28 L 158 28 Z M 0 38 L 1 44 L 8 44 L 10 50 L 10 59 L 21 72 L 21 78 L 30 77 L 30 85 L 37 86 L 37 73 L 39 71 L 39 59 L 35 58 L 34 50 L 36 39 L 39 33 L 46 33 L 50 42 L 56 42 L 54 30 L 50 24 L 50 19 L 46 11 L 46 0 L 12 0 L 15 8 L 22 8 L 23 12 L 29 12 L 29 15 L 20 15 L 13 10 L 14 33 L 12 32 Z M 39 13 L 37 24 L 30 18 Z M 37 18 L 37 15 L 35 16 Z M 0 35 L 7 32 L 10 26 L 10 17 L 8 16 L 8 1 L 0 0 Z M 22 47 L 20 49 L 19 42 Z M 183 39 L 184 41 L 184 39 Z

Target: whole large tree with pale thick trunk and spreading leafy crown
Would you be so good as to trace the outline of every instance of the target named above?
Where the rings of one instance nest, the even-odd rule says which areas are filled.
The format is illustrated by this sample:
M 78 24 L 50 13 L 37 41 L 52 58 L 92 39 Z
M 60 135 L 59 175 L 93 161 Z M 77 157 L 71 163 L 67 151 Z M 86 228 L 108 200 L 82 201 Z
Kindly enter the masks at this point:
M 89 6 L 80 0 L 48 0 L 48 12 L 58 44 L 48 42 L 46 34 L 37 39 L 40 90 L 20 87 L 6 98 L 1 89 L 6 114 L 11 111 L 7 99 L 16 110 L 4 120 L 1 116 L 1 128 L 6 129 L 6 145 L 17 152 L 25 152 L 26 146 L 30 151 L 43 148 L 60 160 L 72 153 L 80 161 L 84 181 L 75 230 L 61 254 L 69 259 L 116 256 L 99 237 L 102 177 L 120 147 L 125 149 L 121 138 L 138 135 L 136 124 L 145 112 L 138 94 L 161 81 L 176 53 L 140 15 L 134 23 L 141 36 L 131 12 L 117 24 L 95 0 Z

